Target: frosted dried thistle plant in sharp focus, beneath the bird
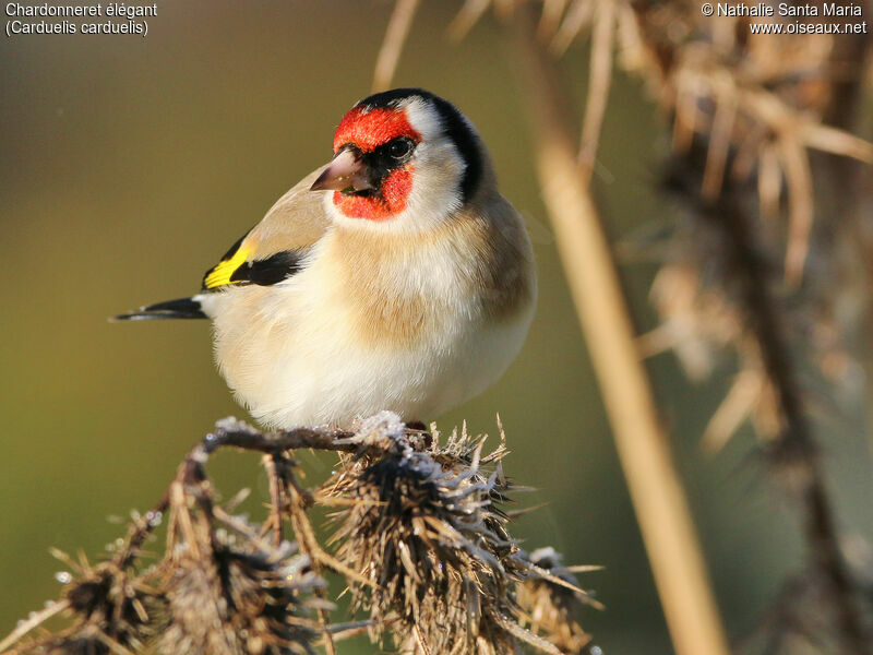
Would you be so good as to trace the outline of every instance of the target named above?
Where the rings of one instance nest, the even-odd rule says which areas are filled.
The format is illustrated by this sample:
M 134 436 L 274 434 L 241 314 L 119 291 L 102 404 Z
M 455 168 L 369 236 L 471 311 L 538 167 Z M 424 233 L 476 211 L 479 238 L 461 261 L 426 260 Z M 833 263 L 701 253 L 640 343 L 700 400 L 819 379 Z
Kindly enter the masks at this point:
M 466 430 L 442 448 L 438 437 L 388 413 L 355 432 L 264 433 L 219 421 L 182 462 L 157 508 L 134 516 L 112 558 L 96 565 L 68 560 L 75 579 L 61 600 L 22 623 L 0 652 L 17 644 L 16 655 L 309 655 L 319 645 L 333 653 L 335 639 L 369 630 L 374 640 L 390 636 L 422 655 L 515 654 L 523 644 L 559 655 L 552 640 L 584 633 L 575 622 L 563 632 L 557 623 L 526 630 L 515 600 L 519 585 L 549 580 L 584 593 L 527 558 L 506 529 L 499 505 L 513 487 L 502 472 L 502 427 L 500 446 L 486 456 L 485 438 Z M 234 514 L 234 501 L 218 502 L 205 464 L 226 446 L 264 453 L 272 502 L 263 523 Z M 290 453 L 300 448 L 340 453 L 338 473 L 314 492 L 295 478 Z M 313 504 L 342 507 L 337 558 L 312 528 Z M 147 564 L 141 546 L 164 514 L 166 549 Z M 299 548 L 283 538 L 286 522 Z M 328 572 L 345 580 L 369 620 L 331 620 L 322 576 Z M 22 640 L 58 614 L 72 624 Z

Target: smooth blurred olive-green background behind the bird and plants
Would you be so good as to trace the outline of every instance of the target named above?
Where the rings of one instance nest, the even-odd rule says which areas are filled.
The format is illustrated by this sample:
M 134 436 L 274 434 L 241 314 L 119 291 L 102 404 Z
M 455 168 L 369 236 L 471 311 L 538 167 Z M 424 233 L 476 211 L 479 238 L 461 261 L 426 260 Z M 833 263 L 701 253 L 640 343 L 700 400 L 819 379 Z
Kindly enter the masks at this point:
M 494 430 L 507 472 L 546 508 L 521 519 L 527 548 L 602 564 L 584 584 L 606 604 L 583 624 L 607 654 L 670 653 L 621 469 L 560 263 L 529 147 L 516 61 L 488 19 L 461 44 L 458 2 L 424 2 L 395 83 L 423 86 L 470 117 L 501 187 L 528 221 L 540 300 L 527 345 L 503 380 L 438 417 Z M 107 521 L 159 497 L 214 420 L 244 416 L 211 360 L 205 322 L 109 324 L 141 303 L 198 289 L 201 275 L 287 188 L 331 155 L 342 115 L 369 93 L 392 9 L 386 1 L 159 2 L 147 38 L 16 36 L 0 43 L 0 633 L 57 596 L 56 546 L 99 556 L 122 534 Z M 579 103 L 587 53 L 562 67 Z M 581 105 L 579 105 L 581 106 Z M 598 193 L 613 238 L 673 211 L 655 191 L 665 121 L 636 82 L 618 79 Z M 637 326 L 655 324 L 655 269 L 623 269 Z M 719 603 L 732 635 L 767 606 L 803 555 L 787 501 L 762 477 L 743 432 L 707 458 L 697 439 L 728 374 L 692 389 L 671 357 L 651 362 Z M 873 535 L 859 416 L 827 442 L 841 523 Z M 264 491 L 254 460 L 212 465 L 228 492 Z M 306 461 L 311 481 L 330 462 Z M 366 644 L 340 652 L 374 652 Z

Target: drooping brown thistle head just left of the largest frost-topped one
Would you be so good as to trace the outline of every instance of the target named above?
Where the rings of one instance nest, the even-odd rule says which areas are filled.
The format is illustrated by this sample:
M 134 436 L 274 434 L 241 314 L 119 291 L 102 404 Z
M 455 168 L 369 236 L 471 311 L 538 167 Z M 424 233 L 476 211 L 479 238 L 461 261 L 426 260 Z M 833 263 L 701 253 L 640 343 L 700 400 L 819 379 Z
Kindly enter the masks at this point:
M 205 479 L 170 488 L 169 555 L 162 572 L 170 620 L 158 650 L 313 653 L 318 628 L 301 610 L 313 607 L 307 595 L 323 581 L 309 558 L 295 556 L 288 541 L 266 543 L 241 517 L 227 515 L 216 529 L 213 496 Z

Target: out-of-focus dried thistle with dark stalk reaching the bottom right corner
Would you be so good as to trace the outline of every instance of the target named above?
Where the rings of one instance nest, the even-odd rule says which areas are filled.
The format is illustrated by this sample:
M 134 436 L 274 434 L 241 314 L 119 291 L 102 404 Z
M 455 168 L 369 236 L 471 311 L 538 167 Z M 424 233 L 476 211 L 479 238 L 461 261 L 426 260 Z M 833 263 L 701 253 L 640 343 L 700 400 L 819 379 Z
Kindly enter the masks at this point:
M 657 40 L 651 26 L 663 24 L 653 20 L 660 8 L 645 4 L 639 5 L 641 21 L 649 24 L 648 38 Z M 671 4 L 666 11 L 677 12 L 678 3 Z M 870 144 L 847 131 L 852 129 L 851 116 L 870 41 L 738 39 L 726 46 L 728 52 L 736 52 L 734 61 L 743 62 L 737 67 L 729 58 L 719 59 L 718 50 L 704 43 L 678 39 L 666 46 L 666 40 L 661 39 L 661 45 L 670 55 L 663 62 L 671 63 L 662 62 L 659 68 L 665 85 L 671 79 L 682 81 L 667 104 L 674 103 L 675 127 L 690 126 L 683 128 L 685 136 L 677 147 L 681 174 L 673 175 L 671 182 L 691 200 L 690 215 L 697 226 L 685 231 L 693 235 L 692 248 L 699 248 L 703 233 L 709 233 L 718 243 L 718 249 L 709 252 L 714 258 L 707 261 L 707 255 L 699 257 L 696 266 L 691 266 L 690 277 L 699 285 L 695 301 L 683 308 L 673 306 L 666 313 L 684 317 L 686 323 L 696 314 L 703 325 L 704 303 L 699 300 L 704 285 L 699 281 L 704 272 L 710 277 L 705 293 L 726 299 L 718 312 L 709 314 L 707 329 L 732 325 L 731 335 L 718 345 L 737 348 L 742 370 L 714 416 L 707 437 L 717 436 L 723 442 L 746 415 L 752 415 L 766 442 L 772 471 L 797 493 L 811 570 L 822 577 L 816 582 L 827 591 L 818 596 L 821 609 L 833 609 L 836 615 L 835 626 L 818 629 L 836 636 L 840 652 L 868 653 L 870 642 L 856 602 L 857 584 L 840 552 L 800 371 L 811 360 L 825 377 L 839 383 L 849 368 L 845 362 L 851 361 L 842 352 L 846 344 L 840 344 L 845 325 L 836 324 L 829 315 L 837 311 L 838 299 L 852 288 L 839 276 L 846 276 L 850 269 L 846 262 L 858 257 L 840 241 L 858 225 L 858 180 L 864 167 L 851 159 L 869 162 L 871 157 Z M 816 49 L 816 43 L 827 47 Z M 799 46 L 802 48 L 797 50 Z M 743 52 L 748 58 L 741 58 Z M 765 61 L 762 52 L 781 56 Z M 834 74 L 836 71 L 840 72 Z M 717 88 L 727 91 L 719 95 Z M 706 109 L 704 99 L 715 109 Z M 731 108 L 737 129 L 727 129 L 727 121 L 718 127 L 725 107 Z M 740 138 L 743 132 L 744 140 Z M 731 162 L 731 175 L 723 183 L 707 183 L 713 178 L 714 157 Z M 748 201 L 748 181 L 755 167 L 757 206 Z M 681 180 L 679 184 L 677 180 Z M 782 193 L 788 216 L 785 235 L 780 225 Z M 782 247 L 787 288 L 776 277 L 779 269 L 774 253 Z M 817 275 L 814 282 L 805 282 L 801 272 L 811 251 L 817 260 Z M 675 262 L 665 265 L 659 279 L 677 269 Z M 714 284 L 713 278 L 718 282 Z M 716 340 L 710 341 L 716 345 Z

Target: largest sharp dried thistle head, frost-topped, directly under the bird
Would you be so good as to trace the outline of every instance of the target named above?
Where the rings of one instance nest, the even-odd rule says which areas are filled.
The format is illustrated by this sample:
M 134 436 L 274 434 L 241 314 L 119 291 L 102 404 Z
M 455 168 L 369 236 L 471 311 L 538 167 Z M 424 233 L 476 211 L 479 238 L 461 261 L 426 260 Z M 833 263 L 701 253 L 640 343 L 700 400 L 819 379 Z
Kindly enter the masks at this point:
M 524 569 L 499 507 L 512 488 L 500 469 L 504 444 L 482 457 L 485 440 L 466 431 L 440 448 L 407 439 L 396 417 L 373 420 L 356 440 L 375 432 L 386 446 L 344 456 L 320 491 L 342 508 L 337 557 L 372 583 L 351 585 L 355 605 L 404 652 L 515 653 L 519 639 L 557 652 L 512 618 Z

